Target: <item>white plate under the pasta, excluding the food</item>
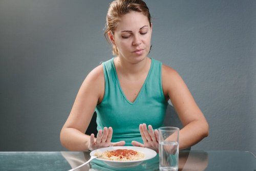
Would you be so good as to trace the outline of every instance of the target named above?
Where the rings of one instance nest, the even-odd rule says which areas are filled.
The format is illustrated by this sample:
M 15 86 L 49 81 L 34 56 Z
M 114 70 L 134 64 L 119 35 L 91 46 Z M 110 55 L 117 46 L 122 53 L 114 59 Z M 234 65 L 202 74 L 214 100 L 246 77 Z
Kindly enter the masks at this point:
M 99 158 L 96 158 L 96 159 L 101 160 L 112 167 L 133 167 L 133 166 L 139 165 L 145 160 L 152 159 L 157 155 L 157 153 L 150 148 L 143 148 L 143 147 L 137 147 L 137 146 L 111 146 L 111 147 L 95 149 L 90 153 L 90 156 L 94 156 L 96 151 L 99 153 L 103 153 L 105 151 L 112 151 L 115 149 L 132 149 L 134 151 L 139 151 L 144 154 L 144 158 L 140 160 L 132 160 L 132 161 L 113 161 L 113 160 L 106 160 L 106 159 L 99 159 Z

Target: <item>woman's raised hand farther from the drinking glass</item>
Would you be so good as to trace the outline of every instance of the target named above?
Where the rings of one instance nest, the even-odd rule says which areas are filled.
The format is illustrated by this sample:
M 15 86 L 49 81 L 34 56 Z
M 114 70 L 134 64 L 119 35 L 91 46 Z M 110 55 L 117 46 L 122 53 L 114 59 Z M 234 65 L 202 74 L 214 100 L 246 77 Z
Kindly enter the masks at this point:
M 112 127 L 104 127 L 103 131 L 99 130 L 97 138 L 94 137 L 94 134 L 91 134 L 90 144 L 88 146 L 90 151 L 93 151 L 97 148 L 109 147 L 109 146 L 123 146 L 125 141 L 111 142 L 113 134 Z

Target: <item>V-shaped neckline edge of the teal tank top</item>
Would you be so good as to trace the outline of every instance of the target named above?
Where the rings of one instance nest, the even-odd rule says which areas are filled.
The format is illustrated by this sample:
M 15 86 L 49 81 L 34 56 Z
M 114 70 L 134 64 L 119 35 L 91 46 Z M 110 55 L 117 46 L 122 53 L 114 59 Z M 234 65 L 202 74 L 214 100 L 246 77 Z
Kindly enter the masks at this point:
M 130 103 L 130 104 L 133 105 L 133 104 L 136 103 L 136 101 L 138 100 L 138 98 L 139 98 L 139 96 L 140 96 L 140 94 L 141 94 L 141 91 L 142 91 L 143 88 L 145 87 L 145 84 L 146 84 L 146 82 L 147 82 L 147 79 L 148 79 L 148 77 L 149 77 L 149 75 L 150 75 L 150 73 L 151 73 L 151 70 L 152 70 L 152 66 L 153 66 L 153 63 L 152 63 L 152 62 L 153 62 L 153 59 L 150 58 L 150 59 L 151 59 L 150 70 L 148 70 L 146 79 L 144 80 L 144 82 L 143 82 L 143 84 L 142 84 L 142 86 L 141 86 L 141 88 L 140 88 L 140 91 L 139 91 L 137 97 L 136 97 L 135 100 L 132 102 L 132 101 L 130 101 L 129 99 L 127 99 L 126 95 L 124 94 L 124 92 L 123 92 L 123 90 L 122 90 L 121 84 L 120 84 L 119 79 L 118 79 L 118 76 L 117 76 L 117 71 L 116 71 L 116 66 L 115 66 L 114 58 L 115 58 L 115 57 L 112 58 L 112 66 L 113 66 L 113 68 L 114 68 L 114 72 L 115 72 L 115 76 L 116 76 L 116 80 L 117 80 L 117 83 L 118 83 L 119 90 L 121 91 L 121 93 L 122 93 L 124 99 L 125 99 L 128 103 Z

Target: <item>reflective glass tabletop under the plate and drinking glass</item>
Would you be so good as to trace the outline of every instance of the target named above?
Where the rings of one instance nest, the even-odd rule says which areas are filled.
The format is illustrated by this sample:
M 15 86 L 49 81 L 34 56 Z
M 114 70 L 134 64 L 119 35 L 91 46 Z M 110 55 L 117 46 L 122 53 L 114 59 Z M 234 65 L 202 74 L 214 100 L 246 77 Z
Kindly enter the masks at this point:
M 90 152 L 0 152 L 0 170 L 69 170 L 90 159 Z M 77 170 L 159 170 L 158 155 L 140 165 L 115 168 L 94 159 Z M 180 151 L 179 170 L 256 170 L 256 158 L 244 151 Z

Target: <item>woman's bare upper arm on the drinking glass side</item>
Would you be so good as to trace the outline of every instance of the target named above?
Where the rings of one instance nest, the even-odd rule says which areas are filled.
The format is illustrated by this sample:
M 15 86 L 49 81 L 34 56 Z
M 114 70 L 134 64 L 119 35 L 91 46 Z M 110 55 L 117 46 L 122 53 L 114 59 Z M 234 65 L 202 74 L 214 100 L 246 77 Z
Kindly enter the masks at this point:
M 194 120 L 205 120 L 179 73 L 164 65 L 162 66 L 162 86 L 164 94 L 172 101 L 183 125 Z

